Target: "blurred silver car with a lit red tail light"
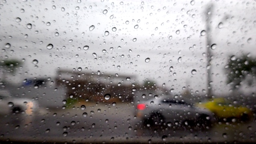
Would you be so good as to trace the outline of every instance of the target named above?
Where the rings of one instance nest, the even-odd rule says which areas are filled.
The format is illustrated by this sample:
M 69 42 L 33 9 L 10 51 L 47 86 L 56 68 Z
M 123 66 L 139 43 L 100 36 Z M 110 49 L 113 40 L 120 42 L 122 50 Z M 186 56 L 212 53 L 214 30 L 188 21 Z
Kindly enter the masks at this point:
M 144 126 L 210 127 L 214 122 L 212 112 L 193 106 L 184 100 L 168 96 L 147 100 L 136 105 L 136 116 Z

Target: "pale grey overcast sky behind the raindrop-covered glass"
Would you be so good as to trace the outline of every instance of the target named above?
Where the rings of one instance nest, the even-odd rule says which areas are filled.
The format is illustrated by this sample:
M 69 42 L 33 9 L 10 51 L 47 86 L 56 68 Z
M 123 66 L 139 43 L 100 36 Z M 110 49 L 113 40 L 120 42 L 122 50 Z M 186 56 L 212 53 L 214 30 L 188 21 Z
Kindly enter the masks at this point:
M 224 75 L 228 56 L 256 54 L 254 1 L 2 0 L 0 56 L 23 59 L 15 77 L 20 81 L 54 77 L 57 68 L 81 67 L 82 72 L 136 75 L 140 83 L 148 78 L 175 92 L 188 85 L 193 92 L 202 92 L 206 35 L 201 32 L 206 30 L 210 3 L 216 44 L 213 90 L 228 92 Z M 53 48 L 47 48 L 49 44 Z

